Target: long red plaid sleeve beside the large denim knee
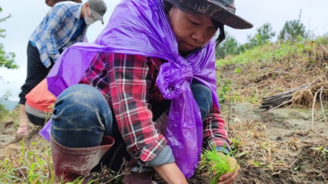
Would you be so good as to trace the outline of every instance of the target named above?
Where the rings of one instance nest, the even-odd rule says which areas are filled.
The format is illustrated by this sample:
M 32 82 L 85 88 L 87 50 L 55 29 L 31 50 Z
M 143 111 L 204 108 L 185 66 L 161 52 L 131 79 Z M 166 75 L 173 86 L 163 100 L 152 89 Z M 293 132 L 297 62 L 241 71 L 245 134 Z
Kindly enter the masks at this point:
M 156 158 L 167 140 L 152 121 L 149 104 L 151 72 L 147 58 L 138 55 L 108 54 L 112 108 L 128 152 L 142 162 Z

